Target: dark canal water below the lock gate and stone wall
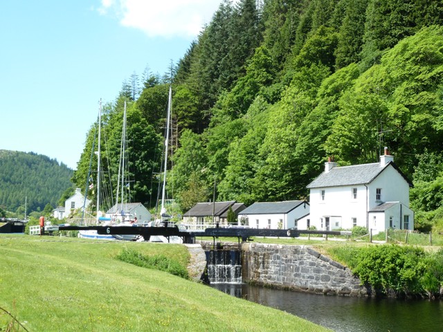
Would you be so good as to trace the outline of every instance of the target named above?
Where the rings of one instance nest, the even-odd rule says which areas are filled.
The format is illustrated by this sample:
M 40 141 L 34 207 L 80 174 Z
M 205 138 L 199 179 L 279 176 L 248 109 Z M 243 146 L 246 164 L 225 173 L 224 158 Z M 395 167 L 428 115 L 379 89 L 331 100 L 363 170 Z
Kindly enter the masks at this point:
M 211 286 L 337 332 L 443 331 L 443 302 L 440 301 L 326 296 L 246 284 Z

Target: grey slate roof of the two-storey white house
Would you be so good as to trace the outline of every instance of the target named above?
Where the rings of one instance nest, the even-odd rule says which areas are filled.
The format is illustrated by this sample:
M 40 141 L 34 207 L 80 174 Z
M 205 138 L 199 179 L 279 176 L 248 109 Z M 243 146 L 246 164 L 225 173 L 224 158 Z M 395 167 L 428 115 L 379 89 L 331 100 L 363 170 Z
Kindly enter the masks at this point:
M 383 170 L 387 167 L 394 167 L 405 181 L 412 186 L 412 183 L 404 176 L 395 163 L 388 163 L 385 166 L 380 166 L 380 163 L 353 165 L 334 167 L 329 172 L 323 172 L 314 181 L 307 185 L 308 189 L 321 187 L 339 187 L 343 185 L 365 185 L 371 183 L 374 178 L 377 178 Z

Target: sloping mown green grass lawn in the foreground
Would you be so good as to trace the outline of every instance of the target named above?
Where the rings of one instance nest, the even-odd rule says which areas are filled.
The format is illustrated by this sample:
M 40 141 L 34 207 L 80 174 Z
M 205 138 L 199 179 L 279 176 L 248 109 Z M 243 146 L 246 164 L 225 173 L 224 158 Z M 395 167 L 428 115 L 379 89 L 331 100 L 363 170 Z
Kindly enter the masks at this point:
M 119 261 L 188 263 L 184 246 L 0 234 L 0 308 L 28 331 L 327 331 L 273 308 Z M 0 311 L 0 331 L 10 317 Z M 24 331 L 24 329 L 12 330 Z

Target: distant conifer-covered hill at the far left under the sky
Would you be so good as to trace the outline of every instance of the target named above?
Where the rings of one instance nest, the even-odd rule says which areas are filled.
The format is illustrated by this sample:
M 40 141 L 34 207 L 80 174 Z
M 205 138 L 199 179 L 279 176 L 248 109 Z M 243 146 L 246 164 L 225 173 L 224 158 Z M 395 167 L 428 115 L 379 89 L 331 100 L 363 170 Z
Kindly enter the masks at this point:
M 0 150 L 0 207 L 16 212 L 54 208 L 62 193 L 72 187 L 73 170 L 57 160 L 33 152 Z

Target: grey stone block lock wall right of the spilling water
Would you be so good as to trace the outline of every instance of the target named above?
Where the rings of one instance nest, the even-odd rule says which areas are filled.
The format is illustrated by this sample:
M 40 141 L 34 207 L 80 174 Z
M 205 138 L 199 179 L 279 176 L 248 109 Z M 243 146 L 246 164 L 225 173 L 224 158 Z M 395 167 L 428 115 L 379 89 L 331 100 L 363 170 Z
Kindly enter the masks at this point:
M 244 282 L 327 295 L 368 294 L 348 268 L 309 246 L 243 243 L 242 250 Z

